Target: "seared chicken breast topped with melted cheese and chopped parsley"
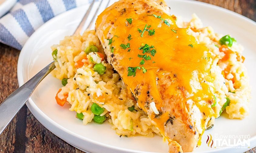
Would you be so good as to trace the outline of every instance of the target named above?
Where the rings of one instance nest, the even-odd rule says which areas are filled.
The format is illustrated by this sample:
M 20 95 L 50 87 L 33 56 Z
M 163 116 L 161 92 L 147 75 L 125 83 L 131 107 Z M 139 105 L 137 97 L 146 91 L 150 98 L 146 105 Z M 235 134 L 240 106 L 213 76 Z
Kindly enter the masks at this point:
M 98 16 L 95 30 L 108 62 L 168 140 L 169 152 L 190 152 L 213 117 L 212 61 L 169 10 L 163 1 L 121 0 Z

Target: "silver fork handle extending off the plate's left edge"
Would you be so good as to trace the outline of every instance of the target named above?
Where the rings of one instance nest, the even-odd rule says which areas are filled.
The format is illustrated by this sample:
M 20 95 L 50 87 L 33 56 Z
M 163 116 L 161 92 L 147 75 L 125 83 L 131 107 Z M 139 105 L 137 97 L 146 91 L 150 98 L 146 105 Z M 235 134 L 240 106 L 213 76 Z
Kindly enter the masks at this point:
M 26 101 L 35 90 L 36 86 L 55 68 L 54 62 L 43 68 L 39 73 L 32 77 L 28 82 L 23 84 L 8 96 L 2 104 L 0 104 L 0 134 L 5 127 L 12 121 L 15 114 L 21 109 Z

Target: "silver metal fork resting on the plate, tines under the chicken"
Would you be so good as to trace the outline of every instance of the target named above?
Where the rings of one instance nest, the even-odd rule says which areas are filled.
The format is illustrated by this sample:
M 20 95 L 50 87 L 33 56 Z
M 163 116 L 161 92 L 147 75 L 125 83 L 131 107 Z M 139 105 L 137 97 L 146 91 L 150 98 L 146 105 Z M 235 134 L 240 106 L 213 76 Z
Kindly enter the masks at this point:
M 80 24 L 78 25 L 76 31 L 73 35 L 80 34 L 82 28 L 84 27 L 84 24 L 91 12 L 91 9 L 94 5 L 95 0 L 92 1 L 90 4 L 87 12 L 85 13 L 83 19 L 81 20 Z M 99 8 L 101 6 L 101 3 L 103 0 L 101 0 L 99 7 L 97 8 L 96 12 L 94 13 L 93 18 L 90 21 L 90 24 L 88 25 L 87 29 L 90 29 L 94 19 L 96 18 L 97 12 L 99 11 Z M 108 0 L 108 4 L 106 5 L 106 8 L 109 5 L 110 0 Z M 17 90 L 15 90 L 12 94 L 10 94 L 0 105 L 0 134 L 4 131 L 5 127 L 12 121 L 13 117 L 18 113 L 18 111 L 21 109 L 21 107 L 26 103 L 26 101 L 29 99 L 37 85 L 53 70 L 55 69 L 54 61 L 47 65 L 43 70 L 41 70 L 39 73 L 37 73 L 34 77 L 32 77 L 30 80 L 28 80 L 26 83 L 24 83 L 21 87 L 19 87 Z

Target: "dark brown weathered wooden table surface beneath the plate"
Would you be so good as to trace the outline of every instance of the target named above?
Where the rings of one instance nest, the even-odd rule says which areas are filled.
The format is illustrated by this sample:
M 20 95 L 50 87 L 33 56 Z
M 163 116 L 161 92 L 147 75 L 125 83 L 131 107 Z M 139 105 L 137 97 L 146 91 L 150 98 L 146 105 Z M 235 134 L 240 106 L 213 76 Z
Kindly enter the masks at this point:
M 229 9 L 256 21 L 255 0 L 200 0 Z M 17 61 L 20 51 L 0 43 L 0 103 L 18 88 Z M 0 153 L 5 152 L 83 152 L 47 130 L 22 107 L 0 135 Z M 103 151 L 104 152 L 104 151 Z M 246 153 L 255 153 L 252 148 Z

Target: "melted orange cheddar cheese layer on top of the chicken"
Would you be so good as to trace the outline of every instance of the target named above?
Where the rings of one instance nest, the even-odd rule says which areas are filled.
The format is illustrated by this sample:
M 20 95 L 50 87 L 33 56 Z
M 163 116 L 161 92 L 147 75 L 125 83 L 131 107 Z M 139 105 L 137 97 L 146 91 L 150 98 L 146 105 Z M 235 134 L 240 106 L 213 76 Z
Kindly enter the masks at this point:
M 137 8 L 138 9 L 138 8 Z M 126 8 L 125 13 L 120 15 L 116 9 L 107 9 L 97 19 L 96 25 L 101 22 L 109 23 L 108 27 L 104 30 L 104 36 L 108 39 L 113 37 L 111 47 L 114 47 L 114 54 L 121 55 L 122 60 L 118 61 L 124 69 L 119 71 L 123 73 L 122 79 L 127 85 L 128 89 L 133 92 L 138 84 L 143 84 L 142 92 L 138 96 L 138 104 L 144 110 L 145 99 L 147 98 L 146 91 L 150 90 L 150 95 L 156 104 L 157 109 L 163 107 L 161 94 L 157 86 L 157 76 L 163 73 L 171 72 L 176 74 L 178 83 L 169 86 L 166 91 L 166 97 L 175 95 L 177 85 L 184 87 L 187 95 L 186 98 L 192 99 L 196 106 L 199 107 L 201 112 L 206 116 L 211 117 L 213 111 L 207 101 L 213 100 L 213 88 L 210 87 L 205 81 L 212 82 L 210 77 L 210 53 L 209 49 L 196 42 L 193 36 L 187 34 L 187 29 L 178 28 L 175 19 L 159 10 L 151 10 L 150 13 L 137 14 L 136 8 Z M 152 14 L 161 16 L 162 19 L 167 20 L 171 25 L 166 25 L 161 19 L 154 17 Z M 132 23 L 129 24 L 126 19 L 131 18 Z M 114 23 L 114 26 L 111 26 Z M 145 25 L 151 25 L 147 29 L 155 29 L 155 35 L 149 36 L 145 31 L 143 37 L 138 29 L 143 30 Z M 176 30 L 176 33 L 172 31 Z M 131 34 L 131 40 L 128 40 L 128 35 Z M 130 48 L 122 49 L 121 44 L 130 43 Z M 156 50 L 155 56 L 151 56 L 151 60 L 145 60 L 144 65 L 140 65 L 142 58 L 138 54 L 143 55 L 142 50 L 138 48 L 142 44 L 153 45 Z M 193 45 L 193 48 L 189 46 Z M 128 52 L 128 49 L 131 49 Z M 153 63 L 153 61 L 155 63 Z M 142 70 L 136 70 L 136 76 L 127 76 L 128 67 L 144 66 L 147 69 L 146 73 Z M 162 69 L 163 71 L 159 71 Z M 201 100 L 204 100 L 202 102 Z M 201 102 L 200 102 L 201 101 Z M 154 118 L 154 114 L 149 115 L 156 123 L 156 127 L 164 133 L 164 124 L 168 120 L 168 112 L 162 114 L 158 118 Z M 202 124 L 204 129 L 204 124 Z

